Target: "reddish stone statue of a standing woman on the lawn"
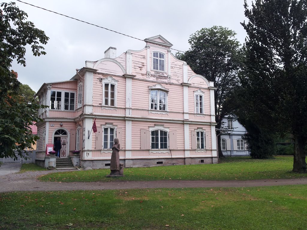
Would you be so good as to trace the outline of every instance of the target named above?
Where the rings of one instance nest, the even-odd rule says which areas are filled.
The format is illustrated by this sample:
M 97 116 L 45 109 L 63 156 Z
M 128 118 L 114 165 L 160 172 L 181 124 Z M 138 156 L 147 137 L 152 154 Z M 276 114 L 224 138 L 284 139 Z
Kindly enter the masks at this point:
M 114 139 L 114 145 L 112 146 L 112 155 L 111 155 L 111 164 L 110 164 L 110 175 L 107 177 L 112 176 L 124 176 L 123 171 L 123 164 L 119 163 L 119 151 L 120 151 L 120 144 L 118 138 Z

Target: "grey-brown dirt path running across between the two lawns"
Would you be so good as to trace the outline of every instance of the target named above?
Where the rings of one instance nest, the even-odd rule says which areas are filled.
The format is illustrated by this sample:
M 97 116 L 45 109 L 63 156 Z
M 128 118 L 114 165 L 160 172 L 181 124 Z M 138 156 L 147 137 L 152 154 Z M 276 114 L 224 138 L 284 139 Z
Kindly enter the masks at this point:
M 70 170 L 65 170 L 70 171 Z M 301 179 L 262 179 L 248 181 L 112 181 L 112 182 L 41 182 L 36 178 L 54 171 L 35 171 L 0 176 L 0 192 L 55 191 L 55 190 L 106 190 L 133 188 L 193 188 L 193 187 L 254 187 L 307 184 Z

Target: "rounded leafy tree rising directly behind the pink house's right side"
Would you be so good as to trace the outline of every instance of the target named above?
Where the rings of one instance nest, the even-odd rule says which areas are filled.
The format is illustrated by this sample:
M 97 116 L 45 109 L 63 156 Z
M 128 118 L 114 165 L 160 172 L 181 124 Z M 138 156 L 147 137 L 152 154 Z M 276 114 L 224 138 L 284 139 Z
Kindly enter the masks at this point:
M 242 50 L 235 35 L 233 30 L 221 26 L 203 28 L 190 36 L 191 48 L 187 52 L 177 53 L 177 57 L 186 61 L 196 74 L 214 82 L 217 88 L 214 96 L 220 157 L 223 156 L 219 135 L 222 119 L 233 112 L 233 89 L 239 84 Z

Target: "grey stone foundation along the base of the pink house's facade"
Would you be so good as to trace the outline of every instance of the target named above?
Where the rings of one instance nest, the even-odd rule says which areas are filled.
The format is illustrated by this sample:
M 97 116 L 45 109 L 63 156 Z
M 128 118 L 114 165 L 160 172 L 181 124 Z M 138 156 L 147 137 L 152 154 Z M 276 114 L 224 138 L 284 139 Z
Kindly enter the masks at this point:
M 91 167 L 93 169 L 110 168 L 111 160 L 80 160 L 81 167 Z M 187 164 L 217 164 L 217 157 L 197 157 L 197 158 L 161 158 L 161 159 L 121 159 L 120 163 L 125 168 L 130 167 L 153 167 L 166 165 L 187 165 Z

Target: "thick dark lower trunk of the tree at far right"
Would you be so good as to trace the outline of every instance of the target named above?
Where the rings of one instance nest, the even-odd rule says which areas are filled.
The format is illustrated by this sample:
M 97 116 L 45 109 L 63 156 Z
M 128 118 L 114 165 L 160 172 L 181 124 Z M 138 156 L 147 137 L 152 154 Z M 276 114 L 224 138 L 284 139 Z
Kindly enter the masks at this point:
M 304 136 L 294 135 L 293 172 L 306 173 L 305 144 Z

